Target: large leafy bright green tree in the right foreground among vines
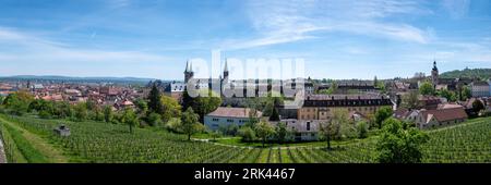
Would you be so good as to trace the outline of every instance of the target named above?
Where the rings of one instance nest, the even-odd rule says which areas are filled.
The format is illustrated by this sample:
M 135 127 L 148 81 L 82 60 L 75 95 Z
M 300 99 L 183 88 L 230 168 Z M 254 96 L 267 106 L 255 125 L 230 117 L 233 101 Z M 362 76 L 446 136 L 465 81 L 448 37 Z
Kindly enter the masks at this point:
M 421 146 L 428 139 L 426 133 L 415 127 L 405 128 L 400 121 L 387 119 L 376 143 L 378 160 L 382 163 L 421 162 Z

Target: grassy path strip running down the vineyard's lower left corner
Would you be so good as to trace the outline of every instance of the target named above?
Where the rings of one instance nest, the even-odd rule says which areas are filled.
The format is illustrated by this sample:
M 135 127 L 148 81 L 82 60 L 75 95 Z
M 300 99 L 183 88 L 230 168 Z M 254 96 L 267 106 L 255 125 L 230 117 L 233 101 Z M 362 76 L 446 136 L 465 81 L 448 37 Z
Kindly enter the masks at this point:
M 39 137 L 36 134 L 33 134 L 28 132 L 27 130 L 24 130 L 23 127 L 19 126 L 15 123 L 12 123 L 8 120 L 4 120 L 3 118 L 0 118 L 0 122 L 7 123 L 10 126 L 14 127 L 15 130 L 19 130 L 22 132 L 22 136 L 26 138 L 34 148 L 36 148 L 39 152 L 41 152 L 49 162 L 53 163 L 67 163 L 69 160 L 61 153 L 60 150 L 55 148 L 51 144 L 49 144 L 44 138 Z

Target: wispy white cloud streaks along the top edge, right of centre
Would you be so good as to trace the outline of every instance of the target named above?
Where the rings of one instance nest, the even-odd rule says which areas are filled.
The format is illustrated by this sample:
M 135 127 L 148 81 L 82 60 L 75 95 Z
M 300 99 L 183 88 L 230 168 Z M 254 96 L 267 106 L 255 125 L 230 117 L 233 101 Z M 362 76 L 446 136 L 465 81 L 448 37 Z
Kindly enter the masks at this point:
M 369 37 L 427 44 L 433 33 L 384 18 L 396 14 L 431 14 L 418 1 L 252 1 L 247 5 L 255 38 L 226 41 L 225 49 L 294 42 L 319 37 L 316 32 L 344 32 Z

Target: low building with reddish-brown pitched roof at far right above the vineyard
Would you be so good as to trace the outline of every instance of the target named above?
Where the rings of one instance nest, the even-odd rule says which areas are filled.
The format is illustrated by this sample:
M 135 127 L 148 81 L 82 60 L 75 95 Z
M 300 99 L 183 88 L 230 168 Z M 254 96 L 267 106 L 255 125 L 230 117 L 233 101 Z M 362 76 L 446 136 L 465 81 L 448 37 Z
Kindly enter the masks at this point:
M 416 118 L 416 125 L 421 128 L 434 128 L 465 122 L 467 113 L 463 108 L 421 110 Z

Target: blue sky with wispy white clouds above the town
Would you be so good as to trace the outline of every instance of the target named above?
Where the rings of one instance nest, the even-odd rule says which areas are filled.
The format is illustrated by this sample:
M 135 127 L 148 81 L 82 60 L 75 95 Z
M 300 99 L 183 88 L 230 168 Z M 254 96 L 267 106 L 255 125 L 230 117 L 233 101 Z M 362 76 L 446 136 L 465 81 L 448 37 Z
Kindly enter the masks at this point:
M 212 50 L 303 59 L 313 78 L 489 69 L 491 1 L 0 0 L 0 76 L 182 79 Z

